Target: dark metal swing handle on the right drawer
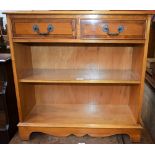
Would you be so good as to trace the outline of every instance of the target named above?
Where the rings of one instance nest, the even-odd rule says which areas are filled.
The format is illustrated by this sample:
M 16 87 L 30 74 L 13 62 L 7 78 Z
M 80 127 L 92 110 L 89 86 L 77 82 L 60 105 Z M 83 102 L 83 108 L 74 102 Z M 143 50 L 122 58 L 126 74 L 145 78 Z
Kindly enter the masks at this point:
M 122 25 L 118 26 L 118 28 L 117 28 L 117 31 L 118 31 L 118 32 L 113 33 L 113 32 L 110 32 L 109 26 L 108 26 L 108 25 L 104 25 L 102 31 L 103 31 L 103 32 L 107 32 L 107 34 L 108 34 L 109 36 L 118 36 L 121 32 L 124 31 L 124 27 L 123 27 Z

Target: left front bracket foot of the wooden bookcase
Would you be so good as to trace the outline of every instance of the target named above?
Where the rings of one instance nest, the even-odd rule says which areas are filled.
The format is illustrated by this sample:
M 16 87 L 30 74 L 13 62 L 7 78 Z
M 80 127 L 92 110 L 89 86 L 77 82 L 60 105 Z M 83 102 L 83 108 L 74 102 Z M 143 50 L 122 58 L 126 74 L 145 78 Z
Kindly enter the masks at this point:
M 19 136 L 22 140 L 29 140 L 31 132 L 27 128 L 18 127 Z

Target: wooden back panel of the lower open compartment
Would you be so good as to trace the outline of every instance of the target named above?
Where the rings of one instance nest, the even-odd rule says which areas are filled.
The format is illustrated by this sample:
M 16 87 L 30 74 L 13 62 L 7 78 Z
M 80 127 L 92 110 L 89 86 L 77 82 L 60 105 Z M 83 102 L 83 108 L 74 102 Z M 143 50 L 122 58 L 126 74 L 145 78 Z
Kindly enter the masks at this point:
M 100 84 L 35 85 L 36 104 L 128 104 L 132 86 Z

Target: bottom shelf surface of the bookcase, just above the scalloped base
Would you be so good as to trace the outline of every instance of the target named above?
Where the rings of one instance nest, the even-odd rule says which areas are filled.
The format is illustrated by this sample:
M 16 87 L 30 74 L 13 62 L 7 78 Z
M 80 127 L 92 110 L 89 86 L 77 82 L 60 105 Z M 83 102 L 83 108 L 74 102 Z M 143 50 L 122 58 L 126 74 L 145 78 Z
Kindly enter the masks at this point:
M 40 127 L 135 127 L 129 105 L 36 104 L 23 125 Z

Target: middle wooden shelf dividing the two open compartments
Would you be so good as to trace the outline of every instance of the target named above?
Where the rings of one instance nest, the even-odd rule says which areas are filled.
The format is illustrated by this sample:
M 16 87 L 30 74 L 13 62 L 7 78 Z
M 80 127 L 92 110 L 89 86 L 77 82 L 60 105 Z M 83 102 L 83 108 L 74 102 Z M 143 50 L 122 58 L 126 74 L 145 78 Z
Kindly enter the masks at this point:
M 23 83 L 123 83 L 139 84 L 139 76 L 131 70 L 34 69 L 23 73 Z

